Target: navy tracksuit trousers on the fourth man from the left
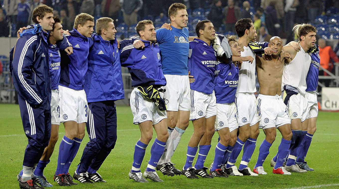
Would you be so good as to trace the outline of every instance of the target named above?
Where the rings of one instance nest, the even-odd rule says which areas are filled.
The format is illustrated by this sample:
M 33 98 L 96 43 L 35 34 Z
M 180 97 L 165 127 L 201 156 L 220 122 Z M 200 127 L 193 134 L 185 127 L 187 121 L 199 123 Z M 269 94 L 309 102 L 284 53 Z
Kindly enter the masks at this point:
M 117 141 L 117 111 L 114 100 L 88 102 L 86 129 L 89 142 L 86 144 L 78 173 L 88 167 L 98 170 L 112 151 Z

